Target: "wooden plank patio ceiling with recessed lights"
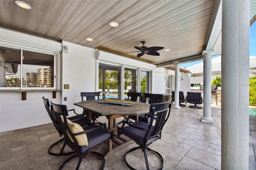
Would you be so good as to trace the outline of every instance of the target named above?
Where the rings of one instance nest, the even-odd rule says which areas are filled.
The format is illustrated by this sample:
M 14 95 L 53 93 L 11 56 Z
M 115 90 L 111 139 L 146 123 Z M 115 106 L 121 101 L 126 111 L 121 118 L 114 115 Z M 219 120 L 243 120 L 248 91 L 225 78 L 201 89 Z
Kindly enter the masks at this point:
M 201 55 L 215 0 L 0 0 L 0 26 L 62 40 L 155 65 Z M 109 22 L 118 22 L 113 28 Z M 93 38 L 92 42 L 86 38 Z M 160 56 L 137 58 L 134 46 L 160 46 Z

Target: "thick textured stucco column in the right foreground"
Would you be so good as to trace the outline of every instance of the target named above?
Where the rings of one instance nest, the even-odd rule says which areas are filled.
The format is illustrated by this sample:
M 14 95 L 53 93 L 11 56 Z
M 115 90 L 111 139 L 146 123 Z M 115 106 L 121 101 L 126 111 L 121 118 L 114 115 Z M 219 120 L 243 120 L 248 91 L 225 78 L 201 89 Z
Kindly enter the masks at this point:
M 249 12 L 249 0 L 222 1 L 222 170 L 248 170 Z

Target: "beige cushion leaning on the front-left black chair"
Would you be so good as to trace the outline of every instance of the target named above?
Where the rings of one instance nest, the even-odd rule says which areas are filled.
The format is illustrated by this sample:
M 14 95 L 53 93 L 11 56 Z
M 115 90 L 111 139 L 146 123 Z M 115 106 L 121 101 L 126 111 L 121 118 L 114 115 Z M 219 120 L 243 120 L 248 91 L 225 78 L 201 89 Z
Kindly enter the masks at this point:
M 70 128 L 72 133 L 78 133 L 78 132 L 84 131 L 84 129 L 77 123 L 73 123 L 73 122 L 68 123 L 68 127 Z M 71 138 L 69 133 L 68 133 L 68 136 L 70 137 L 71 141 L 74 142 L 74 140 Z M 88 146 L 88 139 L 87 139 L 86 133 L 76 135 L 75 138 L 76 138 L 79 146 Z

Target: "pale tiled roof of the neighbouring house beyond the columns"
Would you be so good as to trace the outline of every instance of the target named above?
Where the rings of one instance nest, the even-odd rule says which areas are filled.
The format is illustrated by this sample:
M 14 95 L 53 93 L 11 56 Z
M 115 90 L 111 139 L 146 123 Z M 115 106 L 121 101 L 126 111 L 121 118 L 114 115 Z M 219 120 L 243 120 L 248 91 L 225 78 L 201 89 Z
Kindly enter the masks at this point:
M 250 69 L 256 69 L 256 56 L 250 56 Z M 186 67 L 192 74 L 204 72 L 204 62 Z M 212 59 L 212 72 L 221 71 L 221 55 Z

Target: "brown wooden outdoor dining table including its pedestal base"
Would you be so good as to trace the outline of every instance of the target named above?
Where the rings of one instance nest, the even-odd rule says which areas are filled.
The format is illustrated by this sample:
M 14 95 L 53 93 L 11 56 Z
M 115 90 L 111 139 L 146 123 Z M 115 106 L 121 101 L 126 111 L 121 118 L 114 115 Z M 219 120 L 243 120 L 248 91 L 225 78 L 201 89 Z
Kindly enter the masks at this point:
M 110 102 L 107 102 L 110 101 Z M 116 101 L 116 102 L 115 102 Z M 105 103 L 106 102 L 106 103 Z M 124 102 L 124 103 L 120 103 Z M 89 118 L 91 119 L 92 113 L 97 113 L 99 115 L 104 115 L 108 119 L 108 129 L 116 130 L 116 119 L 119 117 L 137 116 L 149 112 L 150 104 L 131 102 L 128 104 L 127 100 L 120 99 L 100 99 L 100 100 L 88 100 L 80 101 L 74 103 L 74 105 L 87 109 L 89 111 Z M 118 136 L 119 137 L 119 136 Z M 118 138 L 122 140 L 122 143 L 117 142 L 118 146 L 112 147 L 112 140 L 109 139 L 108 154 L 116 152 L 117 150 L 124 148 L 133 141 L 126 141 L 123 138 Z M 120 141 L 118 140 L 118 141 Z M 115 142 L 115 140 L 113 140 Z

